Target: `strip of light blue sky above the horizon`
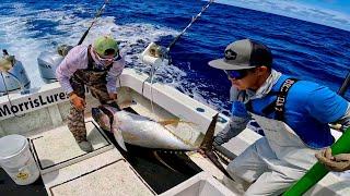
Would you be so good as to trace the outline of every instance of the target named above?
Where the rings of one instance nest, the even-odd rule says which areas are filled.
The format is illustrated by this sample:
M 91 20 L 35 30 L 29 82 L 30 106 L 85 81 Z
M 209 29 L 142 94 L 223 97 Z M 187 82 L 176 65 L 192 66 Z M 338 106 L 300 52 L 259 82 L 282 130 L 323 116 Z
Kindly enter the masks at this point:
M 350 0 L 217 0 L 350 32 Z

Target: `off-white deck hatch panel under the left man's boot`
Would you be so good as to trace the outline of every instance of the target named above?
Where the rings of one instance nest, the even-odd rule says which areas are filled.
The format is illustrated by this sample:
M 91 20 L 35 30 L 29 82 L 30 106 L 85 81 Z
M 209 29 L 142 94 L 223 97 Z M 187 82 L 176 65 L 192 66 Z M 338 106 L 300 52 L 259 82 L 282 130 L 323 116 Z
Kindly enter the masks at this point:
M 94 148 L 94 151 L 89 154 L 79 148 L 67 125 L 43 131 L 30 137 L 33 154 L 42 174 L 77 163 L 113 148 L 113 144 L 91 120 L 88 120 L 85 125 L 88 139 Z

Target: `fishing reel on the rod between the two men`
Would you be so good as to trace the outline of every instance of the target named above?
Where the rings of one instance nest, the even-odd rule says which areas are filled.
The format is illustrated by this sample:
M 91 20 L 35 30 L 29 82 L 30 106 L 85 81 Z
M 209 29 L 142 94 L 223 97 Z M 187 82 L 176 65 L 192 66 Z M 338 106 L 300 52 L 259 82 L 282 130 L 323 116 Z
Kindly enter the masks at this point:
M 141 53 L 140 59 L 143 63 L 159 66 L 167 65 L 171 62 L 171 57 L 168 56 L 168 49 L 162 46 L 151 42 L 144 51 Z

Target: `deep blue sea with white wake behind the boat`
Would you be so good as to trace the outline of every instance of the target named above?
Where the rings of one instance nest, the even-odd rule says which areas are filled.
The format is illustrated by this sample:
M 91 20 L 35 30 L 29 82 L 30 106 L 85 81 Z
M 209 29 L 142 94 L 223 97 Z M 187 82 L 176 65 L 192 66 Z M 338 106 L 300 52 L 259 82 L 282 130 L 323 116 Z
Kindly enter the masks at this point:
M 167 46 L 206 1 L 112 0 L 84 44 L 102 34 L 120 40 L 127 66 L 150 68 L 138 59 L 151 41 Z M 36 58 L 58 45 L 77 45 L 103 1 L 1 0 L 0 48 L 20 59 L 32 86 L 44 83 Z M 350 70 L 350 32 L 270 13 L 212 4 L 171 51 L 173 64 L 162 66 L 156 79 L 220 111 L 228 111 L 224 73 L 208 66 L 230 42 L 252 38 L 272 49 L 276 70 L 337 91 Z M 349 90 L 346 98 L 350 98 Z

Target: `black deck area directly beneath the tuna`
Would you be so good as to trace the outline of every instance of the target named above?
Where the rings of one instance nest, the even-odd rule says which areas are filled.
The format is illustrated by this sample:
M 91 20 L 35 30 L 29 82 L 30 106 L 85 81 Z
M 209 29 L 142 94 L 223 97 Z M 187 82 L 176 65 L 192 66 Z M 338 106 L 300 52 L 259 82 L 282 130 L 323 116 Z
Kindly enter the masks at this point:
M 166 167 L 156 159 L 153 150 L 126 144 L 128 152 L 124 152 L 114 136 L 110 133 L 106 135 L 156 194 L 166 192 L 201 171 L 185 154 L 158 150 L 158 157 Z

